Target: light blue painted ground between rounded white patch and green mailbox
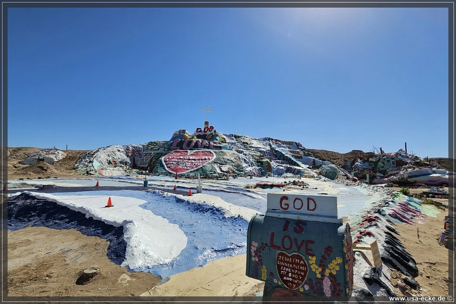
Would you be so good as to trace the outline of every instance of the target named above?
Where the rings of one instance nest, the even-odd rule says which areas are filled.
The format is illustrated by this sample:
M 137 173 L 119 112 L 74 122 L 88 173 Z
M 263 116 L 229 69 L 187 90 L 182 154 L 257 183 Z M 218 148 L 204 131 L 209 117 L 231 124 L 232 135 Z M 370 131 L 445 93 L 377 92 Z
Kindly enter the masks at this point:
M 211 260 L 246 253 L 248 222 L 241 217 L 225 217 L 220 209 L 185 201 L 178 197 L 149 193 L 140 207 L 179 225 L 187 237 L 187 246 L 171 263 L 147 269 L 162 278 L 201 267 Z

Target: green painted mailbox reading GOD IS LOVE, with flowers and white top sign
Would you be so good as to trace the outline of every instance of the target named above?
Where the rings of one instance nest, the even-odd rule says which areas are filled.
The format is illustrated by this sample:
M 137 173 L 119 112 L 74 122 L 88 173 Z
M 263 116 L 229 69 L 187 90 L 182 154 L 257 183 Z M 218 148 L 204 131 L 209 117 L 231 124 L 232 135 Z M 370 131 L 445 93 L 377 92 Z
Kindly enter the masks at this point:
M 267 214 L 255 215 L 247 233 L 246 275 L 265 282 L 263 296 L 351 295 L 352 238 L 348 223 L 331 220 L 336 205 L 331 197 L 268 194 Z

